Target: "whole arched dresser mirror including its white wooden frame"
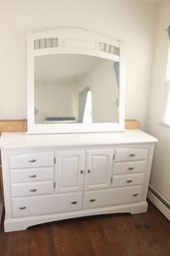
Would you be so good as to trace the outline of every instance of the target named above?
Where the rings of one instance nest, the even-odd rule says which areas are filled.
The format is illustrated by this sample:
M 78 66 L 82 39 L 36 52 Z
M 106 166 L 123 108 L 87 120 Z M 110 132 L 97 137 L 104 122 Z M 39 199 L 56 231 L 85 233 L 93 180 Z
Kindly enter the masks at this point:
M 28 132 L 124 126 L 123 43 L 82 29 L 28 35 Z

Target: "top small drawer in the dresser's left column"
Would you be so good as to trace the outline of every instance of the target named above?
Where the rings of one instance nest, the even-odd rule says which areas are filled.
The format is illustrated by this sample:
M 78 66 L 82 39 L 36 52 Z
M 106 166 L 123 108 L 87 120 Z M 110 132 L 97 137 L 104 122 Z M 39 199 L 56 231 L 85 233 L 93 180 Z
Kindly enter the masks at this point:
M 14 155 L 10 157 L 10 167 L 17 168 L 34 168 L 54 165 L 54 152 L 46 151 L 40 153 L 27 153 Z

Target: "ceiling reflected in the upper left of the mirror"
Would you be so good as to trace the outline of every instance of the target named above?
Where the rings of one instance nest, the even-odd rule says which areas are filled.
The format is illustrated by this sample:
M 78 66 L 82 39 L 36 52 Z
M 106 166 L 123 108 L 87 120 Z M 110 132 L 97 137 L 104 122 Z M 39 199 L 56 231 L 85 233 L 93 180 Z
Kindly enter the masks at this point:
M 68 85 L 79 81 L 92 70 L 100 58 L 85 55 L 45 55 L 35 57 L 37 84 Z

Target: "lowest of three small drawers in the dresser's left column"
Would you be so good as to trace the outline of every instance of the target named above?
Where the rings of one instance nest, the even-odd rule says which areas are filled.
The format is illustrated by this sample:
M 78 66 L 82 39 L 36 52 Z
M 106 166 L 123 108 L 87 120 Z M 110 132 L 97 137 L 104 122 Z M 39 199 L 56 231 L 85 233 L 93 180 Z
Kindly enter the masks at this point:
M 12 196 L 30 196 L 39 194 L 50 194 L 54 192 L 53 181 L 13 183 L 11 185 Z

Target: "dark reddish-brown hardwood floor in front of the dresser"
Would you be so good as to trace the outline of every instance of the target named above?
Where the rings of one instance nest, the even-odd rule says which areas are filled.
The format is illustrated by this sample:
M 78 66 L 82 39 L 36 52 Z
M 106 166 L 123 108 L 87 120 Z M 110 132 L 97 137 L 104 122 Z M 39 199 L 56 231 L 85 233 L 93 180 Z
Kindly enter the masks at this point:
M 0 256 L 170 256 L 170 222 L 149 203 L 144 214 L 65 220 L 4 233 Z

